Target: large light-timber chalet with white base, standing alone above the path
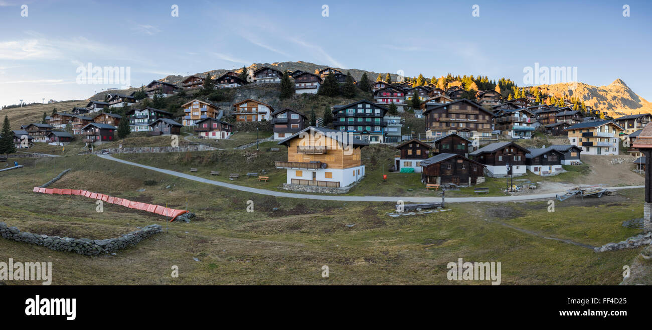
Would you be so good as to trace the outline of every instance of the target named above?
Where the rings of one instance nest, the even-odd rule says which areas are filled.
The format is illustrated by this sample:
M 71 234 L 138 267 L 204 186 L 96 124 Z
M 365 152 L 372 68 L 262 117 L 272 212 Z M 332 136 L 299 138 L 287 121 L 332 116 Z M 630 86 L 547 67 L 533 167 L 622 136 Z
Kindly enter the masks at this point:
M 286 189 L 333 193 L 319 187 L 347 187 L 364 177 L 361 149 L 368 143 L 346 132 L 311 126 L 278 144 L 288 147 L 288 161 L 275 162 L 287 170 Z

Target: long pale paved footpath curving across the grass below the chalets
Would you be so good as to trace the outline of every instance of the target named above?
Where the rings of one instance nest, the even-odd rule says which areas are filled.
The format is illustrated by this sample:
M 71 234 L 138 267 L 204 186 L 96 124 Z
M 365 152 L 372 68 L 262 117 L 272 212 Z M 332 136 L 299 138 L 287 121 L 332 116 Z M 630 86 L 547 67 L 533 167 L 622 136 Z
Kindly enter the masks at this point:
M 188 179 L 192 181 L 198 181 L 201 183 L 208 183 L 209 185 L 216 185 L 219 187 L 230 188 L 240 191 L 252 192 L 254 194 L 270 195 L 276 197 L 288 197 L 288 198 L 303 198 L 307 200 L 336 200 L 343 202 L 396 202 L 402 200 L 405 202 L 417 202 L 417 203 L 436 203 L 441 202 L 440 197 L 415 197 L 415 196 L 330 196 L 330 195 L 312 195 L 312 194 L 295 194 L 292 192 L 280 192 L 267 189 L 259 189 L 252 187 L 244 187 L 240 185 L 233 185 L 232 183 L 226 183 L 222 181 L 214 181 L 209 179 L 204 179 L 203 177 L 196 177 L 194 175 L 189 175 L 186 173 L 175 172 L 171 170 L 164 170 L 162 168 L 155 168 L 153 166 L 147 166 L 143 164 L 138 164 L 135 162 L 128 162 L 127 160 L 118 159 L 112 157 L 111 155 L 96 155 L 98 157 L 113 160 L 115 162 L 121 162 L 123 164 L 138 166 L 140 168 L 146 168 L 147 170 L 152 170 L 160 173 L 165 173 L 168 175 L 174 175 L 175 177 L 182 177 L 183 179 Z M 627 186 L 627 187 L 606 187 L 611 190 L 618 189 L 631 189 L 631 188 L 645 188 L 645 186 Z M 533 195 L 521 195 L 521 196 L 492 196 L 492 197 L 449 197 L 446 198 L 447 203 L 462 203 L 462 202 L 514 202 L 520 200 L 540 200 L 545 198 L 555 198 L 556 194 L 565 194 L 564 192 L 551 192 L 549 194 L 533 194 Z

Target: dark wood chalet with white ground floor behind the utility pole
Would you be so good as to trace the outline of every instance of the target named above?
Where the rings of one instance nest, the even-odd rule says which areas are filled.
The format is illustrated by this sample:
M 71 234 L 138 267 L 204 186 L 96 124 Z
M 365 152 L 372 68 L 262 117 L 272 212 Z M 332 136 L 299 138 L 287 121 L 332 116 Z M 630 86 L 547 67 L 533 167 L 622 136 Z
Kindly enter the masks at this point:
M 505 177 L 509 175 L 507 164 L 514 176 L 524 175 L 527 172 L 527 153 L 529 150 L 514 142 L 496 142 L 469 153 L 469 157 L 484 164 L 490 176 Z

